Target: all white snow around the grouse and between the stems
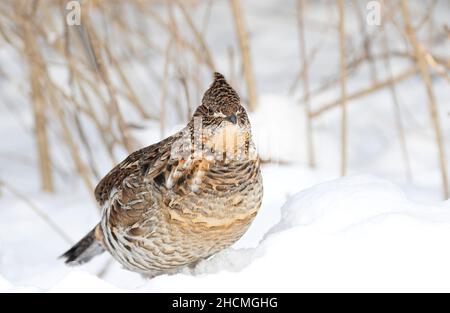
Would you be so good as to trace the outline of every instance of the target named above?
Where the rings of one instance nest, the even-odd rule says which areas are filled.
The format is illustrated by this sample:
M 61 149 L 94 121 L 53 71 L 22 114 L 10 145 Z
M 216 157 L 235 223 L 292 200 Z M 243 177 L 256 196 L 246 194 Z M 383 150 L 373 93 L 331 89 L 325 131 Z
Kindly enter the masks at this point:
M 280 6 L 275 0 L 249 0 L 244 6 L 259 91 L 259 107 L 250 119 L 261 157 L 275 161 L 262 168 L 262 208 L 232 248 L 201 262 L 193 271 L 150 281 L 110 263 L 107 254 L 78 268 L 68 268 L 58 260 L 92 229 L 100 213 L 72 175 L 73 164 L 67 162 L 70 157 L 59 145 L 57 129 L 50 132 L 57 192 L 40 191 L 23 65 L 8 48 L 0 48 L 0 65 L 14 73 L 13 80 L 0 77 L 0 141 L 4 143 L 0 146 L 0 179 L 25 195 L 70 239 L 62 238 L 29 204 L 0 187 L 0 292 L 450 291 L 450 202 L 442 202 L 421 80 L 416 77 L 397 86 L 411 156 L 411 181 L 406 179 L 387 90 L 349 103 L 350 176 L 338 178 L 339 111 L 327 113 L 313 125 L 317 167 L 311 169 L 306 165 L 306 117 L 298 101 L 301 90 L 287 92 L 300 68 L 293 2 Z M 308 10 L 307 25 L 336 20 L 323 6 L 311 5 Z M 446 20 L 448 6 L 438 11 L 437 20 Z M 235 35 L 231 25 L 214 21 L 228 20 L 227 12 L 226 1 L 217 2 L 206 32 L 216 65 L 225 75 L 227 49 L 236 44 Z M 310 49 L 317 42 L 324 45 L 310 66 L 311 88 L 315 89 L 330 72 L 338 72 L 337 37 L 333 31 L 319 34 L 317 28 L 306 35 Z M 392 45 L 396 42 L 403 41 L 391 38 Z M 162 67 L 161 60 L 152 65 Z M 408 66 L 393 61 L 396 73 Z M 385 72 L 379 67 L 382 79 Z M 158 93 L 153 95 L 153 87 L 139 80 L 139 75 L 148 76 L 147 67 L 125 62 L 124 68 L 136 73 L 135 80 L 142 86 L 136 88 L 138 96 L 146 100 L 151 96 L 154 99 L 148 102 L 158 103 Z M 368 77 L 365 70 L 355 73 L 348 82 L 349 92 L 367 86 Z M 202 83 L 206 87 L 209 81 Z M 433 87 L 450 153 L 450 88 L 442 79 L 435 80 Z M 318 108 L 338 97 L 338 89 L 330 90 L 315 97 L 312 106 Z M 141 146 L 160 139 L 154 121 L 137 124 L 143 128 L 133 130 L 133 136 Z M 168 120 L 167 124 L 166 135 L 182 126 L 180 121 Z M 96 138 L 92 140 L 95 143 Z M 93 149 L 98 171 L 106 173 L 111 162 L 102 149 L 95 150 L 95 145 Z

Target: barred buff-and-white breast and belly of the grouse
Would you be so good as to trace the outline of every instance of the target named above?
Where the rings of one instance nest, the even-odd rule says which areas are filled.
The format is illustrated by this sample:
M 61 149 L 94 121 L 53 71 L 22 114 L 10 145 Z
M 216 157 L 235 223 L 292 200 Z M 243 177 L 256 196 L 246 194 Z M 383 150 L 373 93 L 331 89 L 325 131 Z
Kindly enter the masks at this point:
M 207 258 L 247 230 L 262 201 L 259 161 L 213 165 L 197 192 L 196 166 L 182 184 L 127 177 L 104 210 L 105 245 L 127 269 L 155 276 Z

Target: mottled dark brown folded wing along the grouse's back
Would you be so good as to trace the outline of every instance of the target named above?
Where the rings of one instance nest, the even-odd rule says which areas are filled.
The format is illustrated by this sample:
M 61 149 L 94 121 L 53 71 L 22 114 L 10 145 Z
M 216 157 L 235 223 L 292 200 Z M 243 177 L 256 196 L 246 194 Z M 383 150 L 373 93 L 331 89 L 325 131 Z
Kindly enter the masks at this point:
M 103 205 L 114 188 L 119 188 L 123 180 L 130 175 L 142 174 L 155 178 L 170 160 L 172 144 L 180 136 L 170 136 L 159 143 L 145 147 L 130 154 L 114 167 L 95 188 L 95 197 Z

